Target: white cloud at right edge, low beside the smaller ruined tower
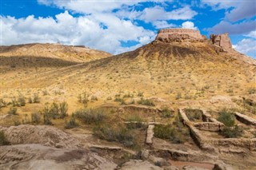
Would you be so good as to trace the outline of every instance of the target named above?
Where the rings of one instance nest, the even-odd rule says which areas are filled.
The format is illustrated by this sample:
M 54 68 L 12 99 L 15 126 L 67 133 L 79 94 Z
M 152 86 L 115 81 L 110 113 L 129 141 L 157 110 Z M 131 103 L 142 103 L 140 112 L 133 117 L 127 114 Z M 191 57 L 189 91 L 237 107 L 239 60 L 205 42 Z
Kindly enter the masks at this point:
M 254 56 L 256 56 L 256 41 L 254 39 L 242 39 L 241 42 L 233 45 L 233 48 L 240 53 L 254 53 Z

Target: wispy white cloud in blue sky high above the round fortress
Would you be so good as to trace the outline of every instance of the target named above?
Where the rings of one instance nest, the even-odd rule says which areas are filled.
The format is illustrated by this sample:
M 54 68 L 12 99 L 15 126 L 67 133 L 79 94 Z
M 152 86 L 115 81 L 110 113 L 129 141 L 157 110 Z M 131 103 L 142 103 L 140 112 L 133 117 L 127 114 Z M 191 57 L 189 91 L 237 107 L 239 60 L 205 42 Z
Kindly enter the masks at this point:
M 190 9 L 190 6 L 184 6 L 171 11 L 166 11 L 161 6 L 154 6 L 144 9 L 139 19 L 145 22 L 154 22 L 157 20 L 186 20 L 194 18 L 197 14 L 196 11 Z

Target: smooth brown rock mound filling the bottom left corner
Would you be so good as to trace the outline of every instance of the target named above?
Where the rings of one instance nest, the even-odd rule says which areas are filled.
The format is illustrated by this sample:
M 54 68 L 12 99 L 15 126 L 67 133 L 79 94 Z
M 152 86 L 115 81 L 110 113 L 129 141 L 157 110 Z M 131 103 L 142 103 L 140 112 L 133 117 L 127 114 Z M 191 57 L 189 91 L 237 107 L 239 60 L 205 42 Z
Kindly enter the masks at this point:
M 115 169 L 117 164 L 86 149 L 52 148 L 42 144 L 0 147 L 0 169 Z

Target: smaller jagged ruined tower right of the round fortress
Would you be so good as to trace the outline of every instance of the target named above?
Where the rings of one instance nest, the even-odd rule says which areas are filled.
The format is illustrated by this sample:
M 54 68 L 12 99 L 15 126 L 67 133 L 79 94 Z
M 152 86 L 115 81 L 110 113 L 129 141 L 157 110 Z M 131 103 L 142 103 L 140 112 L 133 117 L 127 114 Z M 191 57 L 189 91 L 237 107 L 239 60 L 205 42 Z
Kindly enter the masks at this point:
M 230 51 L 232 49 L 232 44 L 230 42 L 229 34 L 219 34 L 219 35 L 210 35 L 210 40 L 214 45 L 218 45 L 222 49 L 226 51 Z

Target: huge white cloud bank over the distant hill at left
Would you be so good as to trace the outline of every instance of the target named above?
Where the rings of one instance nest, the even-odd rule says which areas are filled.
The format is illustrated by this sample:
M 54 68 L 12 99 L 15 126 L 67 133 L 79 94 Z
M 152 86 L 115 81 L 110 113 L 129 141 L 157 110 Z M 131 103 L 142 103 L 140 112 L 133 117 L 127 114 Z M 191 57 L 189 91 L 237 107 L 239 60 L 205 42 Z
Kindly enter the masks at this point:
M 67 11 L 56 19 L 0 17 L 2 20 L 2 45 L 31 42 L 61 42 L 66 45 L 86 45 L 110 53 L 122 49 L 121 41 L 135 41 L 144 45 L 154 39 L 154 32 L 135 26 L 132 22 L 111 14 L 94 14 L 74 18 Z M 102 23 L 106 28 L 102 28 Z M 137 45 L 137 46 L 138 46 Z M 130 47 L 132 49 L 134 47 Z

